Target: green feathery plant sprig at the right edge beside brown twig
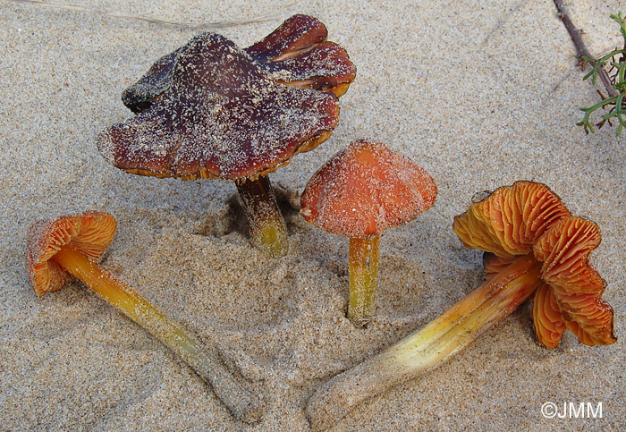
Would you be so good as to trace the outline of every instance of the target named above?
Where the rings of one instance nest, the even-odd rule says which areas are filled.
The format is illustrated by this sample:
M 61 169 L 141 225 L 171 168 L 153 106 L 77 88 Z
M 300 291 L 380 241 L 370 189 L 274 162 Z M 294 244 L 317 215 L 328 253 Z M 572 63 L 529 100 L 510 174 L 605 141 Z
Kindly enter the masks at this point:
M 609 80 L 611 86 L 614 90 L 616 90 L 617 94 L 609 94 L 605 97 L 602 92 L 598 90 L 598 94 L 602 100 L 593 106 L 580 108 L 585 115 L 583 119 L 576 124 L 582 126 L 587 133 L 589 131 L 592 133 L 595 132 L 594 124 L 590 121 L 591 114 L 599 108 L 611 106 L 609 112 L 603 115 L 602 120 L 595 125 L 598 128 L 601 128 L 605 123 L 612 124 L 611 119 L 614 118 L 618 122 L 615 136 L 620 136 L 622 129 L 626 126 L 626 103 L 624 103 L 624 96 L 626 96 L 626 21 L 624 21 L 622 13 L 618 13 L 616 15 L 612 13 L 611 18 L 620 24 L 620 31 L 622 32 L 622 38 L 624 39 L 624 47 L 622 49 L 614 49 L 599 59 L 593 59 L 586 55 L 583 55 L 581 58 L 593 66 L 593 69 L 583 77 L 583 80 L 591 78 L 591 82 L 594 85 L 596 85 L 598 73 L 604 69 L 605 64 L 607 64 L 609 60 L 613 59 L 610 63 L 611 72 L 613 72 L 613 74 L 609 77 Z M 620 55 L 621 58 L 618 58 Z

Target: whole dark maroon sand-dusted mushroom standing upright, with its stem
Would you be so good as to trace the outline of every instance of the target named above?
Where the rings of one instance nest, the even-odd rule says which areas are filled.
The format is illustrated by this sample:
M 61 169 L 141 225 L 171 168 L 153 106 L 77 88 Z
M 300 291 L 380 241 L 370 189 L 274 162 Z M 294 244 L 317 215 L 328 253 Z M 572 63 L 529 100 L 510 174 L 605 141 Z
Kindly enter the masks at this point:
M 286 228 L 267 174 L 330 137 L 337 96 L 356 73 L 326 34 L 296 15 L 246 49 L 215 33 L 192 38 L 124 92 L 139 114 L 102 131 L 100 153 L 132 174 L 233 180 L 252 244 L 282 256 Z

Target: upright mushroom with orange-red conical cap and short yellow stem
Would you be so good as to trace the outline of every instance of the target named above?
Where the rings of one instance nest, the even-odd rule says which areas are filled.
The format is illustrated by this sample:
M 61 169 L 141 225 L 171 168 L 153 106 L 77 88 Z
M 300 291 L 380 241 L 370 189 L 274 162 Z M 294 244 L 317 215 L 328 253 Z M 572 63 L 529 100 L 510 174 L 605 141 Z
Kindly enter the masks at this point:
M 424 168 L 373 140 L 353 141 L 307 183 L 300 214 L 350 238 L 348 318 L 354 326 L 374 316 L 380 235 L 431 208 L 436 194 Z

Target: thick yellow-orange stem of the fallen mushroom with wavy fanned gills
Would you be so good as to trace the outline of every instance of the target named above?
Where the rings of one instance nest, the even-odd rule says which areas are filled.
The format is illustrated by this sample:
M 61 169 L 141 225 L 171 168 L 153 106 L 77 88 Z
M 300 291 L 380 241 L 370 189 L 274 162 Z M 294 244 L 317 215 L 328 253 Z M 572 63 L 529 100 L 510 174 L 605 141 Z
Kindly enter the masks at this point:
M 360 402 L 463 350 L 535 291 L 540 269 L 532 256 L 516 259 L 418 332 L 332 378 L 309 399 L 311 427 L 331 427 Z

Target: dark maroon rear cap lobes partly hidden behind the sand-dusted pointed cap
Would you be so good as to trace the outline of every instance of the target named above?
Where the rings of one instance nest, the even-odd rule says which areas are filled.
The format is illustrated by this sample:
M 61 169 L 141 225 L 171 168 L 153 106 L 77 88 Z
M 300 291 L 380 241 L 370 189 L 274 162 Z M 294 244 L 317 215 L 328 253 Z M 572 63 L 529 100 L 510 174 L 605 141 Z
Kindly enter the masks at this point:
M 348 53 L 326 41 L 326 26 L 308 15 L 293 15 L 256 44 L 244 48 L 273 80 L 294 87 L 324 89 L 340 97 L 356 77 Z M 174 64 L 182 47 L 164 55 L 123 92 L 122 100 L 132 112 L 146 110 L 172 83 Z

